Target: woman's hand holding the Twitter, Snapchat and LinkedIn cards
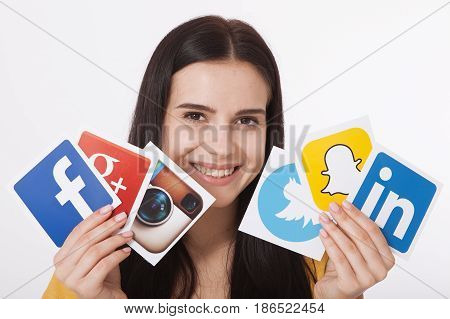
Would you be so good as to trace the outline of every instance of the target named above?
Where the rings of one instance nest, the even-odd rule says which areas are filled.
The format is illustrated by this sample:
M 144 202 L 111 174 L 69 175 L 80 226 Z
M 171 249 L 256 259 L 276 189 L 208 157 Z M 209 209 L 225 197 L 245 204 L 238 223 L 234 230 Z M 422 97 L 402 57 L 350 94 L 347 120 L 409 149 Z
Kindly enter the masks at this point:
M 320 239 L 329 260 L 315 298 L 358 298 L 386 278 L 395 259 L 380 228 L 347 201 L 330 204 L 337 225 L 321 215 Z

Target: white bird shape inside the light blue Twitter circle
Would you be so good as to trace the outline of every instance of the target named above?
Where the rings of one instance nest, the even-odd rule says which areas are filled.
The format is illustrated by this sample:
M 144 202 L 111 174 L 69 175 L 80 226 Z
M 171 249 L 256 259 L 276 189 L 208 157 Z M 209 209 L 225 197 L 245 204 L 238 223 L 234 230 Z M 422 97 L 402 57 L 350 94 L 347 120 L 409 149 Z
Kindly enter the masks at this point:
M 304 217 L 303 227 L 305 227 L 309 221 L 312 221 L 313 225 L 318 224 L 319 214 L 298 198 L 299 194 L 306 191 L 304 187 L 305 186 L 298 184 L 295 179 L 289 178 L 289 183 L 284 187 L 283 195 L 290 203 L 282 211 L 275 214 L 275 216 L 284 218 L 286 221 L 299 220 Z

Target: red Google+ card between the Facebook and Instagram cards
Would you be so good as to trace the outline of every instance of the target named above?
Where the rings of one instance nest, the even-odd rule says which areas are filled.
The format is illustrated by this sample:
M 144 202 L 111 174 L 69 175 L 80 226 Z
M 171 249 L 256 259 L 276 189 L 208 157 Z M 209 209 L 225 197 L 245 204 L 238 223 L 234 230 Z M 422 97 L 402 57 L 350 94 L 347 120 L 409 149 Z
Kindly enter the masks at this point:
M 151 154 L 147 156 L 139 147 L 112 143 L 86 131 L 81 134 L 78 145 L 122 201 L 113 215 L 121 212 L 130 215 L 137 211 L 150 182 L 149 172 L 154 168 Z

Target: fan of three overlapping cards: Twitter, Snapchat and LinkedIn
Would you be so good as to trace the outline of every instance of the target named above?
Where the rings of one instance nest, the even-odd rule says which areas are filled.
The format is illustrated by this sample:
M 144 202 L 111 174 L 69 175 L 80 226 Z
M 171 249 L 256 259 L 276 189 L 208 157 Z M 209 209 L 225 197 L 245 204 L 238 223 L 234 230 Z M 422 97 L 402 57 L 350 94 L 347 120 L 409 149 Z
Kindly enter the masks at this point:
M 301 154 L 301 158 L 292 154 Z M 291 157 L 292 158 L 291 158 Z M 300 152 L 273 148 L 239 230 L 320 260 L 318 216 L 352 202 L 392 250 L 411 254 L 440 183 L 375 144 L 367 118 L 308 135 Z

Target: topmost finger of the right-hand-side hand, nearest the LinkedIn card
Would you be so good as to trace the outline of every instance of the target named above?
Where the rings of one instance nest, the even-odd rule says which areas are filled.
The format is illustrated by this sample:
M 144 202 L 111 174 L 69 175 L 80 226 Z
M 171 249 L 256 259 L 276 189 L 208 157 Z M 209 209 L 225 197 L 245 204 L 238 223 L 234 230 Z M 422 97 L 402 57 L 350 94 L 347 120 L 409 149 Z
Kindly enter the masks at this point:
M 347 212 L 348 216 L 355 221 L 362 229 L 365 229 L 367 234 L 372 239 L 372 242 L 377 247 L 383 262 L 387 269 L 391 269 L 395 265 L 395 257 L 392 254 L 391 249 L 375 222 L 373 222 L 369 217 L 367 217 L 363 212 L 356 208 L 353 204 L 348 201 L 342 203 L 342 208 Z

